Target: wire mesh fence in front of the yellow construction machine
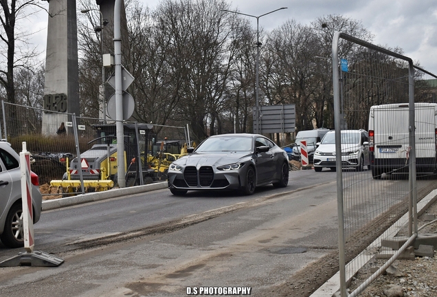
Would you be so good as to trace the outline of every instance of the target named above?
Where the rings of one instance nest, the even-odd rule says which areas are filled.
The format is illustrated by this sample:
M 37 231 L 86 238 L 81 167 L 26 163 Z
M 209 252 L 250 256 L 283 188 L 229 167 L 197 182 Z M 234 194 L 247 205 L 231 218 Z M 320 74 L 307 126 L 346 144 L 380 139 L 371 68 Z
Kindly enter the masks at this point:
M 117 186 L 120 154 L 115 121 L 46 113 L 6 102 L 2 114 L 1 137 L 15 151 L 26 142 L 45 199 Z M 192 145 L 186 127 L 128 121 L 123 127 L 126 186 L 165 181 L 168 166 Z

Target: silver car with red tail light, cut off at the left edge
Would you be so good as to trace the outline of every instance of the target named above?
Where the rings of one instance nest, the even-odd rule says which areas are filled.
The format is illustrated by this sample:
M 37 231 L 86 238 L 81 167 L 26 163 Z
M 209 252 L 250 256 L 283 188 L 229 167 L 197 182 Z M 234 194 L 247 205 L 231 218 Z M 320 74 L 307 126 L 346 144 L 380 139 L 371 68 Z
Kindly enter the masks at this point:
M 31 180 L 36 223 L 41 216 L 43 197 L 38 188 L 38 175 L 32 173 Z M 24 246 L 23 236 L 20 157 L 8 142 L 0 142 L 0 239 L 8 248 L 21 248 Z

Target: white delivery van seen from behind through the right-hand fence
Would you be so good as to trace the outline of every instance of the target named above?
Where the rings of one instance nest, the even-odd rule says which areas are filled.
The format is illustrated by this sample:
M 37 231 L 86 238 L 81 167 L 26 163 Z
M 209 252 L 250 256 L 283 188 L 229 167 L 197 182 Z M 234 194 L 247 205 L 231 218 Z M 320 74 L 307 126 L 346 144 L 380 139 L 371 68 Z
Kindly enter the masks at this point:
M 415 103 L 416 172 L 436 171 L 437 104 Z M 372 177 L 407 173 L 409 164 L 409 104 L 370 107 L 369 150 Z

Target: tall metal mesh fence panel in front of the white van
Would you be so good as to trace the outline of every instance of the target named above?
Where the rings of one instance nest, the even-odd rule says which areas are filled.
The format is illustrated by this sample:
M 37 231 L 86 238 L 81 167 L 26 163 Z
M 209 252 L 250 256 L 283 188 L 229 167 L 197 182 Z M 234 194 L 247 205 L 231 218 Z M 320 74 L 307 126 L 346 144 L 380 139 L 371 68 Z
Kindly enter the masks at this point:
M 346 284 L 366 263 L 386 260 L 365 283 L 350 287 L 350 296 L 357 296 L 396 257 L 409 252 L 405 249 L 416 236 L 416 200 L 431 192 L 435 182 L 436 76 L 419 68 L 411 76 L 412 64 L 370 45 L 358 46 L 340 65 L 336 107 L 340 129 L 335 133 L 341 136 L 333 138 L 333 144 L 338 139 L 341 144 L 319 159 L 331 170 L 339 168 L 341 159 L 337 172 L 339 228 L 343 228 L 341 296 L 346 296 Z

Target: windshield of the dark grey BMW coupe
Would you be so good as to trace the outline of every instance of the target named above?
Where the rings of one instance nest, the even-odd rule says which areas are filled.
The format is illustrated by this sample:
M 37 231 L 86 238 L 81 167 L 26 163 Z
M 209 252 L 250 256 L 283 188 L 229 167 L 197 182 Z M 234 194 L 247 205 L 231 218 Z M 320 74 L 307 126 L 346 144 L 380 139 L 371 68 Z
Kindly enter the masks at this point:
M 251 151 L 251 137 L 210 137 L 196 148 L 197 153 L 210 151 Z

